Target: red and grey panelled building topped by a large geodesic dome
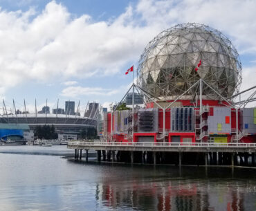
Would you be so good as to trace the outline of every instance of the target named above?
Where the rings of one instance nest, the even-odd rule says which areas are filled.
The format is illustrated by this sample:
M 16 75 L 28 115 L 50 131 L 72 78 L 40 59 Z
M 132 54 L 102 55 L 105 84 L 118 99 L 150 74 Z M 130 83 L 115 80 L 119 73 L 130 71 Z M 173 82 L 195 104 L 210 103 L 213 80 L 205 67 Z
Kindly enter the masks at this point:
M 104 113 L 101 138 L 255 143 L 256 108 L 247 105 L 256 86 L 239 92 L 241 70 L 237 50 L 218 30 L 194 23 L 164 30 L 140 56 L 138 81 L 129 89 L 143 95 L 145 107 Z

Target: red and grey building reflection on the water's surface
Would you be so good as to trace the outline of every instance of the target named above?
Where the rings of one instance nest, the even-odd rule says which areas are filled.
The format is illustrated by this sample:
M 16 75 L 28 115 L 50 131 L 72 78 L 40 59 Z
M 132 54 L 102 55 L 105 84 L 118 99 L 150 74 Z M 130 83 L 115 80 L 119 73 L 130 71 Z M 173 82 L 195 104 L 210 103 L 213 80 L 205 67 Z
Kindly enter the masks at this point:
M 109 210 L 245 210 L 244 193 L 241 190 L 233 188 L 232 184 L 214 185 L 209 181 L 127 181 L 125 185 L 105 181 L 98 185 L 96 199 Z

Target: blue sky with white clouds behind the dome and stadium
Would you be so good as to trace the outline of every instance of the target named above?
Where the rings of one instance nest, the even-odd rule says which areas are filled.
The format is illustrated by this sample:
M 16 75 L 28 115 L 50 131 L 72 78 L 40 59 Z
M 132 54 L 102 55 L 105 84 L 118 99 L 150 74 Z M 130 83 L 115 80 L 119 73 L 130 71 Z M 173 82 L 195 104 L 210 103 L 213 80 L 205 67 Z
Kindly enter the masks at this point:
M 132 83 L 125 71 L 162 30 L 188 22 L 228 37 L 240 55 L 241 89 L 255 85 L 256 1 L 0 0 L 0 98 L 30 112 L 65 100 L 108 107 Z M 1 113 L 1 111 L 0 111 Z

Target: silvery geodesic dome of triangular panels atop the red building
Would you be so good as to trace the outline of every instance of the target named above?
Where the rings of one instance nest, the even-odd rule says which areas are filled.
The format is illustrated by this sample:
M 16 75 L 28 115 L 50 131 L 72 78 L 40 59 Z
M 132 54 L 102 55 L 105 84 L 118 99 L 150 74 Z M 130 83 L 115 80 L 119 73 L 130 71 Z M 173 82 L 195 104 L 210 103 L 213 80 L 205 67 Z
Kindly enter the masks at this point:
M 195 68 L 201 60 L 201 66 Z M 239 91 L 241 62 L 230 40 L 203 24 L 179 24 L 149 42 L 138 64 L 138 85 L 161 100 L 172 100 L 202 78 L 223 97 Z M 191 99 L 198 87 L 185 95 Z M 218 96 L 203 86 L 205 99 Z

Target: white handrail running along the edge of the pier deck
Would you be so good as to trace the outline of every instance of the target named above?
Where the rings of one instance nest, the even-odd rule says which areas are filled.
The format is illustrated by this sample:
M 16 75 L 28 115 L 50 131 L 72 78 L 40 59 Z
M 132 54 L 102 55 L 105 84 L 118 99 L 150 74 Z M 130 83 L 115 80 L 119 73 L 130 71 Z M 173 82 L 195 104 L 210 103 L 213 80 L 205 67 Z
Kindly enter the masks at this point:
M 226 147 L 249 148 L 256 147 L 256 143 L 131 143 L 131 142 L 84 142 L 71 141 L 69 146 L 127 146 L 127 147 Z

